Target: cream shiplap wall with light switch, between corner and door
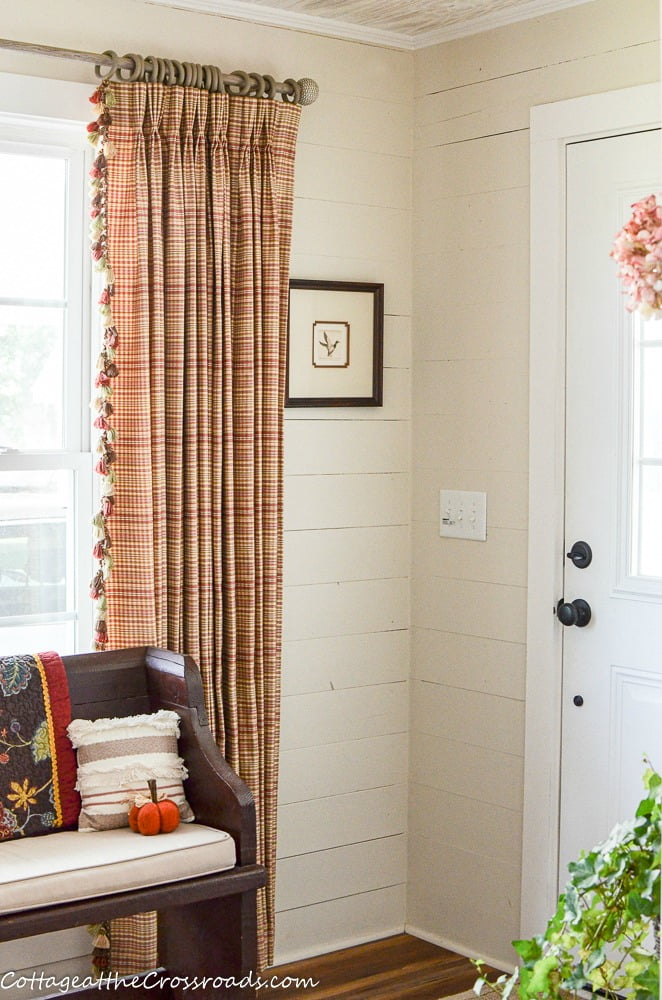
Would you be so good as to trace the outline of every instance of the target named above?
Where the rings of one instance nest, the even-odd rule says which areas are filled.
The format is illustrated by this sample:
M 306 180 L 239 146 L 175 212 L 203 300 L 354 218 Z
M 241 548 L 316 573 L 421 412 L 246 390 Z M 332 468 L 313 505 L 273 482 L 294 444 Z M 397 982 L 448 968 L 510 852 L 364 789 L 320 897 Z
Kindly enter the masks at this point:
M 408 927 L 514 960 L 527 583 L 529 109 L 659 79 L 656 0 L 416 54 Z M 440 488 L 484 490 L 486 543 Z

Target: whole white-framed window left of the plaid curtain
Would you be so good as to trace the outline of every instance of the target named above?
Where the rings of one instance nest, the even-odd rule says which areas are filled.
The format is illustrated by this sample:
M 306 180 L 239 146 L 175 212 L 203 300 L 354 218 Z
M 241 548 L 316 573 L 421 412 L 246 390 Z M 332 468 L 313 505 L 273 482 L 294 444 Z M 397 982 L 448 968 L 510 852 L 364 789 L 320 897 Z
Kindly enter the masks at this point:
M 0 654 L 92 636 L 87 146 L 0 110 Z

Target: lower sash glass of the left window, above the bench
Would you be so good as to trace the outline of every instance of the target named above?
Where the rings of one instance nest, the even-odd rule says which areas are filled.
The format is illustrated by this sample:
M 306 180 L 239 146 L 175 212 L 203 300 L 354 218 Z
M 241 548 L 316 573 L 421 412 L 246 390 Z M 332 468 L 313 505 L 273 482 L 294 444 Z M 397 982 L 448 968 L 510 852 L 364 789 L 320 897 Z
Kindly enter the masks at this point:
M 0 473 L 0 624 L 73 610 L 73 478 Z

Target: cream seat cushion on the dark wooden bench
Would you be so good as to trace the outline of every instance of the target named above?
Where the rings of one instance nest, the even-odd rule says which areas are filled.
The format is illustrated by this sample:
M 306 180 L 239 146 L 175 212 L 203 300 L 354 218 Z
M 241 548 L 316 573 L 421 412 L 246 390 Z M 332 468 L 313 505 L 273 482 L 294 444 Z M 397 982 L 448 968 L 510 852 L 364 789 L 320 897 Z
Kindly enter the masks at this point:
M 142 837 L 62 831 L 0 844 L 0 914 L 211 875 L 235 865 L 234 840 L 200 823 Z

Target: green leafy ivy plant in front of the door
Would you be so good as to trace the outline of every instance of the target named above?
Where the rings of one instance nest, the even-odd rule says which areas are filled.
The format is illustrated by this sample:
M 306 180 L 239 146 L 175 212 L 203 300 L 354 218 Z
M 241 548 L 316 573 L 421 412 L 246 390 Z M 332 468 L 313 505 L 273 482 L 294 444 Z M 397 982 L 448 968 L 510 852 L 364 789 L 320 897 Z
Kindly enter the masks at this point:
M 610 1000 L 660 1000 L 662 777 L 649 767 L 644 786 L 634 818 L 568 866 L 545 933 L 513 941 L 515 972 L 491 982 L 474 963 L 478 995 L 489 986 L 504 1000 L 553 1000 L 589 987 Z

